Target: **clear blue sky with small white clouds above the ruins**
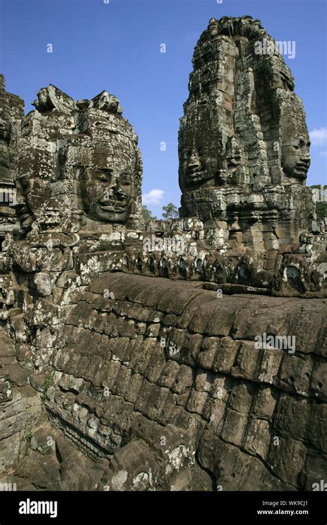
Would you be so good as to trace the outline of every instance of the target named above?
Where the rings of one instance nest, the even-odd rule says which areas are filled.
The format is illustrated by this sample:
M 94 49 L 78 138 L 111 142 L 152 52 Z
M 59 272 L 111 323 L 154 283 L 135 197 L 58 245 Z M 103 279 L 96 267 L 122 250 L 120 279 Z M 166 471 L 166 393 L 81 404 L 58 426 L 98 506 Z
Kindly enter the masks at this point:
M 164 204 L 179 206 L 177 133 L 197 39 L 212 17 L 251 15 L 276 40 L 295 41 L 295 58 L 285 59 L 313 142 L 307 184 L 326 184 L 326 0 L 106 2 L 0 0 L 0 71 L 26 112 L 50 83 L 75 99 L 116 95 L 139 135 L 145 200 L 160 216 Z

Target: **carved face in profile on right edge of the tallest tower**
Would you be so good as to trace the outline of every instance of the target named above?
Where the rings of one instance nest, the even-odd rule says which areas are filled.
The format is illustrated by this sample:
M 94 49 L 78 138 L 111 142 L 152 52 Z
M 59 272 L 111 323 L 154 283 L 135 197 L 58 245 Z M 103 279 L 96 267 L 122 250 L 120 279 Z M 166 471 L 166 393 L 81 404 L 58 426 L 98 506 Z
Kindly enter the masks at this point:
M 285 137 L 281 144 L 281 167 L 286 176 L 304 180 L 310 166 L 308 135 Z

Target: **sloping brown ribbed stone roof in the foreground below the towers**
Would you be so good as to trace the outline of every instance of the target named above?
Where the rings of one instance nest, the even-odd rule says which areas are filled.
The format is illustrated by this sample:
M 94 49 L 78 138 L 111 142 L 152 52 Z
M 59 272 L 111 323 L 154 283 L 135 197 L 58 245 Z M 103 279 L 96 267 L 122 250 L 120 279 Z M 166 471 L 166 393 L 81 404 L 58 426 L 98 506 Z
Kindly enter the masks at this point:
M 93 280 L 52 350 L 45 402 L 95 462 L 83 488 L 311 490 L 327 467 L 325 314 L 319 299 Z M 265 333 L 288 346 L 257 348 Z

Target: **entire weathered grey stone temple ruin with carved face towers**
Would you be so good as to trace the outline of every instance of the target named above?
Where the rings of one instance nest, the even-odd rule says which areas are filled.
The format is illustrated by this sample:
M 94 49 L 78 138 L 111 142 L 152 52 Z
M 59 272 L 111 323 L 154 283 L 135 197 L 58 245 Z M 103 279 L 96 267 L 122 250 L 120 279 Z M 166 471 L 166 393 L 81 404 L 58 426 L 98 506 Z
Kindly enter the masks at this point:
M 303 104 L 283 57 L 256 53 L 263 39 L 248 16 L 199 38 L 168 221 L 143 221 L 117 97 L 50 84 L 24 115 L 0 76 L 1 482 L 326 479 L 326 219 Z

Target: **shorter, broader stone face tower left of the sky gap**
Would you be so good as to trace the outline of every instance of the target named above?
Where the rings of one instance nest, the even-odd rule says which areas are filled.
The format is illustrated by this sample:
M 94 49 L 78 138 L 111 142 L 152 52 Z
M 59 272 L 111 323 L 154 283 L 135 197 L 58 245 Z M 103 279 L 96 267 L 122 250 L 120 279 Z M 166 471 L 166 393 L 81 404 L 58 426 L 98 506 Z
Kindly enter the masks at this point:
M 85 222 L 85 215 L 99 223 L 125 223 L 128 218 L 129 225 L 137 222 L 141 153 L 117 97 L 103 91 L 90 102 L 76 104 L 50 84 L 39 90 L 34 106 L 37 111 L 22 126 L 23 154 L 17 162 L 22 229 L 44 231 L 72 223 L 80 227 L 81 220 L 97 226 Z M 42 126 L 26 125 L 34 117 Z

